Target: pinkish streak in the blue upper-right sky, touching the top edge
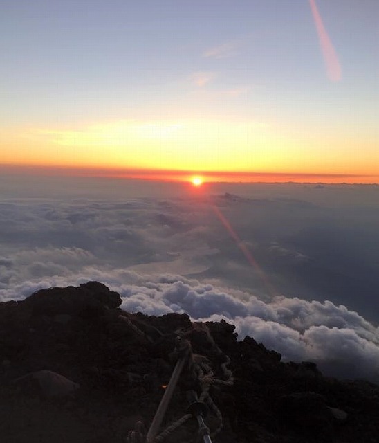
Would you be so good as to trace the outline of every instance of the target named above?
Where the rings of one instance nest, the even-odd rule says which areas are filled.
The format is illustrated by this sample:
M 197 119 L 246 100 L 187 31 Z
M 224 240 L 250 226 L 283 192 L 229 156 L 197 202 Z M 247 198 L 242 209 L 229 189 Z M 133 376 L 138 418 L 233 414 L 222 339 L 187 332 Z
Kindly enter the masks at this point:
M 322 18 L 317 10 L 315 0 L 309 0 L 309 3 L 311 5 L 313 19 L 315 20 L 317 34 L 320 39 L 320 46 L 326 64 L 326 71 L 328 72 L 329 78 L 333 82 L 338 82 L 338 80 L 341 80 L 340 62 L 338 61 L 338 57 L 333 48 L 331 39 L 324 28 L 324 24 L 322 23 Z

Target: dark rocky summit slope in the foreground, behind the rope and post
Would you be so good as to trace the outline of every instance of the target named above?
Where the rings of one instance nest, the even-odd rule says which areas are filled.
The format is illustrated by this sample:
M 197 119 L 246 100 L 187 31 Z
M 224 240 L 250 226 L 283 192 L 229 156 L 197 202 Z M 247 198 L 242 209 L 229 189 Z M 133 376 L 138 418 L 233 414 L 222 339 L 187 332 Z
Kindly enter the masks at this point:
M 88 282 L 0 303 L 1 442 L 127 442 L 138 420 L 151 424 L 178 336 L 193 354 L 163 427 L 185 415 L 186 392 L 195 390 L 215 405 L 205 418 L 211 431 L 222 418 L 215 443 L 379 441 L 378 386 L 323 377 L 313 363 L 282 363 L 254 338 L 237 341 L 225 322 L 129 314 L 121 302 Z M 161 441 L 194 442 L 196 429 L 188 419 Z

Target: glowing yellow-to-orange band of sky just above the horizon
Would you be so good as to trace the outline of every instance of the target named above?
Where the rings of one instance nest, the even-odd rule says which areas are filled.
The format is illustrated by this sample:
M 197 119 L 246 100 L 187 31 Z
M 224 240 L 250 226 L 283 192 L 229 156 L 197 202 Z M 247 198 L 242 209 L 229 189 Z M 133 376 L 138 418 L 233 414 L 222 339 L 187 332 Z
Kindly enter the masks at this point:
M 378 182 L 379 158 L 370 134 L 364 138 L 344 128 L 317 135 L 314 130 L 288 132 L 275 122 L 189 118 L 113 120 L 72 129 L 8 128 L 0 132 L 0 146 L 6 147 L 1 163 L 45 175 L 189 182 L 198 174 L 207 183 Z

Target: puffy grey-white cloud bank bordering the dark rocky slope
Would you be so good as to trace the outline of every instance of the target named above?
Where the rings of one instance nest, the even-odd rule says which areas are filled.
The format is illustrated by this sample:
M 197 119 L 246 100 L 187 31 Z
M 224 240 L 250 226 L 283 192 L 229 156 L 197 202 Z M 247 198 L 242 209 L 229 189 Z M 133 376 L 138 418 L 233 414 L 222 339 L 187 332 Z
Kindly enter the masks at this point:
M 252 336 L 284 361 L 315 361 L 326 374 L 379 382 L 379 329 L 355 311 L 332 302 L 278 297 L 271 302 L 251 293 L 222 289 L 178 275 L 140 275 L 84 268 L 71 278 L 50 277 L 2 290 L 3 300 L 24 298 L 45 287 L 98 280 L 122 296 L 122 309 L 148 315 L 186 312 L 193 320 L 226 320 L 239 338 Z

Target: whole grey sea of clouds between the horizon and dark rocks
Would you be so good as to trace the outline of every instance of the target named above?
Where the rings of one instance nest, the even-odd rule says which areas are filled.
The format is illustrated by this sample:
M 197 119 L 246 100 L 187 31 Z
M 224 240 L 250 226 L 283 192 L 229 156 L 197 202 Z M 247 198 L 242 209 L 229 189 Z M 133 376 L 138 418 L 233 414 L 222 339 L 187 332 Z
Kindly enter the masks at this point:
M 223 318 L 283 359 L 378 382 L 379 190 L 224 188 L 8 193 L 0 300 L 98 280 L 127 311 Z

